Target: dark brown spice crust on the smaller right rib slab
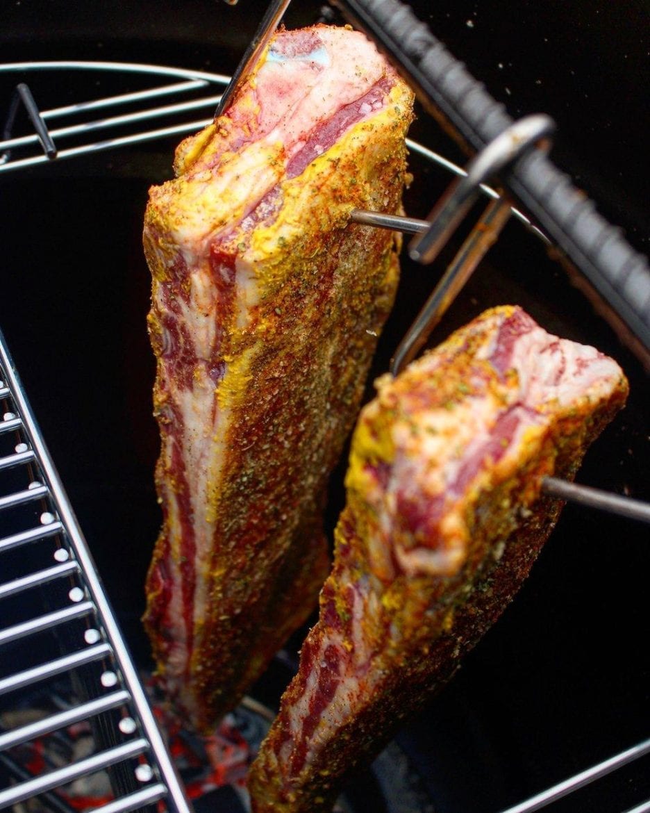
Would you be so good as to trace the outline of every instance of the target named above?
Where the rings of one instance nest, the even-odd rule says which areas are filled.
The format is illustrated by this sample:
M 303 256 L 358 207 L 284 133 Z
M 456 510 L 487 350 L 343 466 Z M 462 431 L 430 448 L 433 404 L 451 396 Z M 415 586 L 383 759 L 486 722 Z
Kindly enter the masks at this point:
M 457 372 L 457 371 L 456 371 Z M 441 387 L 440 398 L 447 394 Z M 288 711 L 304 693 L 323 633 L 346 624 L 346 585 L 354 576 L 354 560 L 362 562 L 366 546 L 364 525 L 368 506 L 363 495 L 349 489 L 348 505 L 336 531 L 336 559 L 320 599 L 320 620 L 306 639 L 301 667 L 285 692 L 280 714 L 257 761 L 249 772 L 254 813 L 314 813 L 330 811 L 359 762 L 368 763 L 396 732 L 400 721 L 418 711 L 433 693 L 453 676 L 460 661 L 494 624 L 522 585 L 561 511 L 561 502 L 539 493 L 542 476 L 554 474 L 572 480 L 591 441 L 621 408 L 626 381 L 594 409 L 588 396 L 552 421 L 539 450 L 508 479 L 468 500 L 466 520 L 472 530 L 468 558 L 450 577 L 398 575 L 386 586 L 379 617 L 364 620 L 371 650 L 380 653 L 384 676 L 371 698 L 335 737 L 329 737 L 309 763 L 292 772 L 292 757 L 279 759 L 291 736 Z M 381 396 L 379 396 L 379 399 Z M 394 404 L 394 402 L 393 402 Z M 390 424 L 399 407 L 384 402 L 375 414 Z M 380 431 L 380 430 L 379 430 Z M 354 446 L 353 446 L 354 448 Z M 354 452 L 353 452 L 354 454 Z M 362 456 L 362 453 L 361 453 Z M 531 500 L 531 484 L 535 495 Z M 536 484 L 536 485 L 535 485 Z M 524 500 L 522 495 L 528 495 Z M 521 512 L 523 505 L 526 511 Z M 372 520 L 371 520 L 372 521 Z M 503 546 L 496 545 L 503 541 Z M 345 580 L 341 579 L 345 572 Z M 325 621 L 323 621 L 325 620 Z M 398 624 L 403 637 L 397 648 L 386 647 L 388 625 Z

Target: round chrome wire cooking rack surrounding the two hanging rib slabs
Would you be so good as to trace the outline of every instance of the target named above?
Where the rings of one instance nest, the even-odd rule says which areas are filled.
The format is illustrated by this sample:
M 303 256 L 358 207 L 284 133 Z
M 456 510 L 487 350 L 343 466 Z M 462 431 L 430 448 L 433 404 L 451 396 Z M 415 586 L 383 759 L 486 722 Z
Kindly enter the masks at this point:
M 219 74 L 137 63 L 67 61 L 0 65 L 0 76 L 15 77 L 17 81 L 44 72 L 56 72 L 58 76 L 65 72 L 98 72 L 139 77 L 146 86 L 42 111 L 28 91 L 17 92 L 0 141 L 0 172 L 17 172 L 53 159 L 58 162 L 83 158 L 104 150 L 196 132 L 212 119 L 219 91 L 228 84 L 228 77 Z M 174 102 L 159 104 L 166 98 L 173 98 Z M 178 101 L 179 98 L 185 100 Z M 20 102 L 28 107 L 36 132 L 22 135 L 10 132 Z M 150 104 L 153 106 L 147 107 Z M 127 112 L 103 115 L 115 108 Z M 206 117 L 195 118 L 197 111 L 206 111 Z M 98 112 L 101 118 L 95 118 Z M 72 123 L 63 125 L 63 120 Z M 163 121 L 165 126 L 155 126 L 157 121 Z M 456 175 L 464 172 L 427 147 L 414 141 L 409 146 L 448 172 Z M 488 196 L 498 197 L 493 189 L 485 185 L 482 188 Z M 548 241 L 525 215 L 513 211 L 527 228 Z M 11 533 L 0 539 L 2 572 L 10 575 L 8 579 L 3 577 L 0 584 L 3 605 L 0 697 L 8 696 L 12 704 L 20 704 L 26 690 L 32 692 L 35 685 L 45 693 L 57 693 L 60 681 L 67 680 L 80 698 L 78 705 L 61 708 L 45 719 L 17 728 L 0 728 L 0 766 L 9 782 L 0 789 L 0 809 L 38 798 L 47 809 L 69 811 L 67 785 L 80 776 L 105 771 L 112 798 L 98 809 L 106 813 L 148 806 L 151 810 L 189 811 L 189 802 L 184 798 L 1 333 L 0 407 L 0 519 L 4 528 L 11 528 Z M 9 519 L 5 524 L 6 517 Z M 20 557 L 15 556 L 16 551 L 20 551 Z M 24 551 L 28 554 L 23 555 Z M 11 599 L 24 595 L 30 599 L 30 612 L 37 604 L 43 607 L 40 615 L 13 617 Z M 33 665 L 12 672 L 11 648 L 19 644 L 32 649 Z M 50 767 L 36 775 L 13 758 L 14 751 L 25 742 L 55 736 L 58 729 L 76 723 L 93 728 L 101 745 L 97 754 Z M 639 743 L 506 813 L 539 810 L 649 752 L 650 741 Z M 650 802 L 628 813 L 643 811 L 650 811 Z

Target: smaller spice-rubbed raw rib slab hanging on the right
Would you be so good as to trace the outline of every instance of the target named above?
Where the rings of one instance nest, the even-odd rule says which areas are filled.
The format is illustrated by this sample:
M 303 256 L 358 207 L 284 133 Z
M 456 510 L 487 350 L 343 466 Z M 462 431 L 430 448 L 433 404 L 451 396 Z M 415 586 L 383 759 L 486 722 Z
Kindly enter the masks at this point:
M 625 402 L 620 368 L 486 311 L 397 379 L 353 435 L 332 575 L 249 774 L 255 813 L 328 811 L 513 598 L 572 478 Z

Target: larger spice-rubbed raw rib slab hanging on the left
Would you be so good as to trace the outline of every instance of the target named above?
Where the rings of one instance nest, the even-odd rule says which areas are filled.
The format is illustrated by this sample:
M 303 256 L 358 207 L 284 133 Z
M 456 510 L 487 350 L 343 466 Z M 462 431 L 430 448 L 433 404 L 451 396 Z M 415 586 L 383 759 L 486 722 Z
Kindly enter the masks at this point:
M 225 115 L 150 190 L 163 530 L 145 626 L 205 730 L 313 609 L 327 478 L 397 285 L 412 94 L 362 34 L 275 36 Z

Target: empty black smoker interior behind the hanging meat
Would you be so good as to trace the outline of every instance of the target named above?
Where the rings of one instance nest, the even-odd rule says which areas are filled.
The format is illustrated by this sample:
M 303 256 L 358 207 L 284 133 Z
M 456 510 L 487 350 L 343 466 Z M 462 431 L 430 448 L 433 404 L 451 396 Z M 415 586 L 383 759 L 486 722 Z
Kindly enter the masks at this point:
M 229 72 L 263 5 L 191 2 L 179 10 L 158 3 L 150 19 L 135 2 L 102 4 L 93 15 L 80 3 L 24 3 L 8 10 L 3 61 L 121 59 Z M 436 12 L 425 4 L 415 8 L 513 115 L 546 111 L 557 118 L 558 163 L 578 175 L 601 211 L 643 250 L 648 217 L 638 159 L 647 128 L 639 112 L 642 77 L 630 78 L 640 66 L 635 25 L 641 4 L 626 2 L 615 25 L 600 2 L 571 11 L 556 3 L 545 11 L 526 2 L 500 10 L 482 2 L 453 5 Z M 318 4 L 295 6 L 288 24 L 319 16 Z M 86 93 L 74 85 L 35 80 L 33 89 L 37 102 L 49 107 Z M 91 95 L 114 92 L 110 85 L 98 79 Z M 2 83 L 0 89 L 2 106 L 11 89 Z M 593 102 L 590 94 L 599 93 Z M 413 134 L 462 160 L 425 115 Z M 0 177 L 0 326 L 142 667 L 150 665 L 139 620 L 143 583 L 160 518 L 141 221 L 148 186 L 170 175 L 176 141 Z M 406 210 L 425 216 L 449 178 L 416 155 L 412 167 Z M 375 373 L 386 369 L 440 267 L 404 263 Z M 622 364 L 630 402 L 587 455 L 578 480 L 648 499 L 647 377 L 520 224 L 506 227 L 434 341 L 505 302 L 521 304 L 545 328 L 594 344 Z M 331 524 L 341 491 L 338 472 Z M 648 564 L 647 526 L 566 506 L 513 605 L 426 714 L 397 737 L 436 811 L 496 813 L 648 736 Z M 258 696 L 276 702 L 287 674 L 276 664 Z M 552 810 L 625 811 L 650 796 L 648 775 L 646 759 Z M 373 799 L 373 810 L 382 804 Z

